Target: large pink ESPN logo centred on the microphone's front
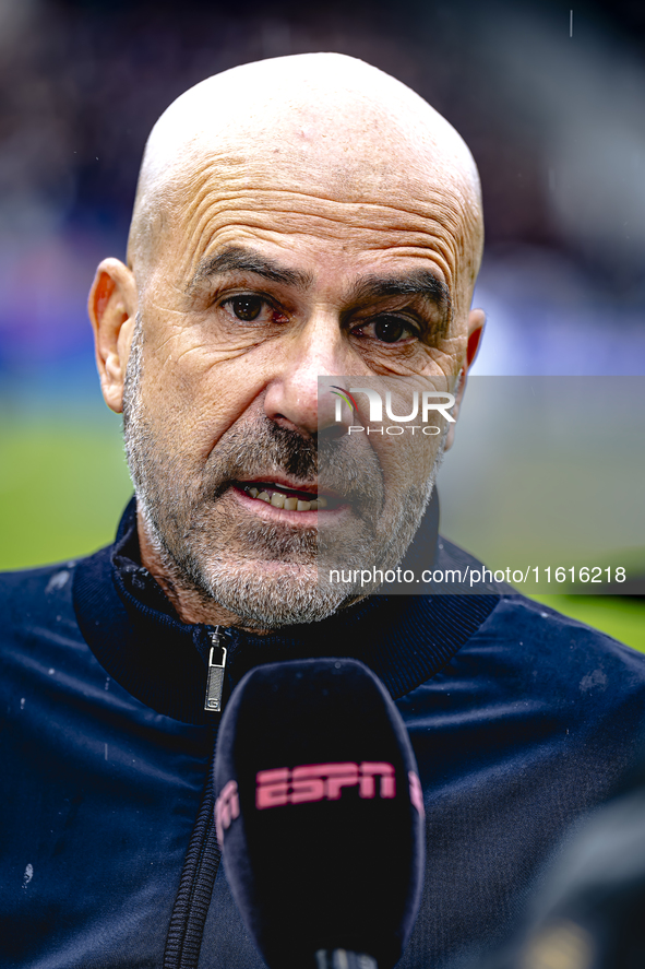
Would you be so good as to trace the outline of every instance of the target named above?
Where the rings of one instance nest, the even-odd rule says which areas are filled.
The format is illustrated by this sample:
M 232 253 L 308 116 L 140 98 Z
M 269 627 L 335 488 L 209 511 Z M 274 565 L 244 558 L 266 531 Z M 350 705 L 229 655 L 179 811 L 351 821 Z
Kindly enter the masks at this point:
M 392 764 L 363 760 L 362 764 L 304 764 L 260 770 L 255 777 L 255 806 L 304 804 L 311 801 L 338 801 L 343 788 L 358 787 L 359 797 L 394 797 L 396 780 Z

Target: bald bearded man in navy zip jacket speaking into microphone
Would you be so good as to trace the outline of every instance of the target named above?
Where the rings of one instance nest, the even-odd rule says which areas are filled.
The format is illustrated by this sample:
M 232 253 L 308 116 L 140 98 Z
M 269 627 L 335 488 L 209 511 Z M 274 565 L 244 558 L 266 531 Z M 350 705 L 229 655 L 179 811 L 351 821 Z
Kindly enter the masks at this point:
M 236 68 L 153 129 L 128 264 L 101 262 L 89 299 L 135 500 L 114 545 L 1 586 L 3 965 L 261 969 L 210 783 L 261 663 L 354 657 L 397 702 L 428 830 L 405 969 L 503 941 L 611 789 L 643 729 L 640 655 L 495 588 L 385 596 L 321 568 L 474 564 L 438 540 L 433 485 L 481 245 L 462 139 L 351 58 Z M 373 393 L 444 406 L 394 439 Z

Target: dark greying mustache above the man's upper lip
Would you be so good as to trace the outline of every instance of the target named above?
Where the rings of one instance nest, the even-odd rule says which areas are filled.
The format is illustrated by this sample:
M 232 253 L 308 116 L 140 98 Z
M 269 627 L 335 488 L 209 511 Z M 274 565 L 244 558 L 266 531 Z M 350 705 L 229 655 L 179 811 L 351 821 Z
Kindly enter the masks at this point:
M 206 464 L 204 487 L 219 498 L 232 481 L 282 474 L 299 484 L 318 484 L 335 492 L 358 510 L 380 509 L 383 474 L 370 447 L 360 448 L 336 427 L 306 437 L 268 418 L 243 428 L 230 428 Z

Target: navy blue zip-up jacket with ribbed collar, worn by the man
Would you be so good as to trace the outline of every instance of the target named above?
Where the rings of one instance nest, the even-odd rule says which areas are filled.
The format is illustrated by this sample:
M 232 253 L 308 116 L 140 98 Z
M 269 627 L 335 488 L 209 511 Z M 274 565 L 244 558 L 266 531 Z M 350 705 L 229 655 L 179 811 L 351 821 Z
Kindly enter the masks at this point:
M 138 556 L 130 506 L 114 546 L 0 581 L 1 967 L 262 966 L 212 831 L 211 630 L 178 619 Z M 326 654 L 362 660 L 396 700 L 428 859 L 402 969 L 503 940 L 645 725 L 645 658 L 517 594 L 374 596 L 226 635 L 225 699 L 259 663 Z

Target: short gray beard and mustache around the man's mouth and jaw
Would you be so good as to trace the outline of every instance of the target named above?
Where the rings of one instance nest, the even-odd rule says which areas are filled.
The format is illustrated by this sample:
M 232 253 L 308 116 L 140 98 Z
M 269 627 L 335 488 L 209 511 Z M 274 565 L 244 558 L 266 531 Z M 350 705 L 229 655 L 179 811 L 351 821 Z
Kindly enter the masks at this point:
M 274 629 L 319 622 L 373 591 L 332 583 L 330 569 L 396 568 L 421 522 L 443 446 L 429 480 L 409 486 L 395 520 L 380 532 L 384 486 L 371 450 L 357 453 L 347 436 L 321 433 L 313 441 L 262 414 L 226 432 L 198 468 L 160 440 L 143 402 L 142 365 L 138 318 L 123 392 L 126 453 L 146 533 L 179 594 L 186 590 L 206 606 L 217 603 L 247 628 Z M 342 494 L 360 520 L 358 533 L 335 535 L 334 529 L 295 529 L 222 513 L 214 528 L 213 516 L 222 511 L 234 481 L 256 475 L 271 481 L 272 474 L 318 478 L 321 488 Z M 263 562 L 272 567 L 263 568 Z

